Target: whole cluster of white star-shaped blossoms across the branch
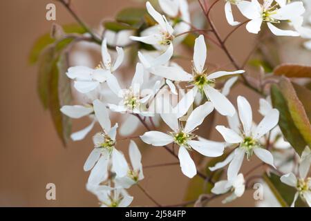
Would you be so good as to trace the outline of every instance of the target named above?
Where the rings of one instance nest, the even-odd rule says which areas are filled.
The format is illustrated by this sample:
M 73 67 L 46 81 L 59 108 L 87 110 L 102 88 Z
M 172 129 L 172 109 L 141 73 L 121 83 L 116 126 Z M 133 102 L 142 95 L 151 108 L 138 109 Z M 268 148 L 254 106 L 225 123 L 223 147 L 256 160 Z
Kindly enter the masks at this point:
M 236 26 L 232 6 L 249 19 L 247 30 L 258 33 L 263 23 L 274 35 L 298 36 L 301 32 L 301 18 L 305 8 L 301 1 L 288 3 L 284 0 L 264 0 L 263 5 L 257 0 L 225 0 L 225 15 L 230 25 Z M 245 191 L 245 179 L 241 173 L 241 165 L 246 157 L 252 160 L 256 155 L 265 164 L 275 168 L 274 157 L 267 150 L 264 138 L 269 134 L 274 140 L 274 146 L 290 145 L 279 139 L 281 131 L 277 126 L 279 111 L 272 108 L 270 102 L 261 100 L 260 113 L 264 116 L 256 125 L 253 122 L 252 108 L 247 99 L 237 98 L 237 108 L 227 99 L 230 88 L 244 70 L 211 72 L 207 66 L 207 46 L 205 37 L 200 35 L 195 40 L 194 55 L 189 61 L 189 73 L 181 66 L 171 61 L 176 46 L 184 38 L 182 33 L 191 29 L 190 15 L 186 0 L 159 0 L 160 8 L 165 15 L 161 15 L 151 3 L 147 2 L 147 12 L 156 21 L 156 25 L 140 32 L 140 36 L 131 36 L 132 41 L 140 41 L 153 46 L 156 53 L 138 52 L 138 62 L 130 84 L 124 84 L 117 71 L 126 56 L 124 50 L 116 47 L 116 53 L 109 50 L 106 38 L 102 41 L 102 61 L 95 68 L 74 66 L 68 69 L 67 76 L 73 80 L 73 87 L 79 94 L 87 97 L 84 104 L 63 106 L 62 113 L 75 119 L 89 117 L 91 124 L 71 135 L 73 140 L 82 140 L 96 123 L 101 131 L 93 135 L 94 148 L 88 156 L 84 171 L 91 171 L 88 177 L 87 189 L 97 195 L 102 206 L 129 206 L 133 197 L 126 189 L 138 184 L 144 179 L 142 171 L 142 155 L 133 139 L 140 138 L 142 142 L 152 146 L 163 146 L 176 154 L 180 168 L 184 175 L 194 177 L 198 171 L 191 152 L 197 151 L 206 157 L 219 157 L 225 148 L 231 152 L 223 162 L 210 167 L 211 171 L 227 168 L 227 180 L 216 182 L 211 190 L 215 194 L 232 191 L 232 195 L 224 202 L 241 197 Z M 299 25 L 300 22 L 300 25 Z M 289 23 L 295 30 L 281 30 L 279 23 Z M 113 59 L 115 57 L 115 59 Z M 222 83 L 222 84 L 219 84 Z M 120 84 L 122 86 L 120 86 Z M 127 85 L 127 86 L 126 86 Z M 187 91 L 180 90 L 182 87 Z M 178 97 L 173 101 L 171 97 Z M 193 111 L 192 106 L 195 106 Z M 206 140 L 196 134 L 208 115 L 217 111 L 226 116 L 229 127 L 216 126 L 216 130 L 223 136 L 225 142 Z M 187 115 L 188 113 L 188 115 Z M 111 116 L 117 117 L 111 117 Z M 131 135 L 137 126 L 133 123 L 142 122 L 147 132 L 132 137 L 129 144 L 128 164 L 124 153 L 118 146 L 118 126 L 121 135 Z M 112 126 L 111 119 L 117 118 Z M 187 121 L 183 120 L 187 118 Z M 131 120 L 129 120 L 131 119 Z M 169 131 L 157 130 L 156 124 L 162 119 Z M 122 128 L 123 124 L 126 126 Z M 282 148 L 282 147 L 280 147 Z M 284 147 L 285 148 L 285 147 Z M 305 178 L 310 167 L 310 150 L 301 157 L 300 176 L 296 178 L 292 173 L 284 175 L 282 182 L 295 186 L 297 194 L 307 200 L 310 205 L 310 178 Z

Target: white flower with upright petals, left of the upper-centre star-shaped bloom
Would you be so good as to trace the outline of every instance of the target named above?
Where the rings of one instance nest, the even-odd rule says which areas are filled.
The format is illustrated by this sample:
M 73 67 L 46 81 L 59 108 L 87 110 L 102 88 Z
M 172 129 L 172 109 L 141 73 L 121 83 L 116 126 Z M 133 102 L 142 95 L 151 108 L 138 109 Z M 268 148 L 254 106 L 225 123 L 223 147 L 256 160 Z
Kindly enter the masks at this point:
M 108 104 L 111 111 L 125 113 L 139 113 L 145 116 L 152 116 L 153 114 L 146 110 L 144 104 L 148 102 L 149 98 L 153 93 L 148 95 L 141 95 L 141 88 L 144 82 L 144 67 L 138 63 L 136 65 L 135 75 L 132 79 L 131 86 L 126 89 L 121 89 L 117 79 L 114 75 L 107 75 L 107 84 L 109 88 L 117 95 L 122 98 L 119 105 Z

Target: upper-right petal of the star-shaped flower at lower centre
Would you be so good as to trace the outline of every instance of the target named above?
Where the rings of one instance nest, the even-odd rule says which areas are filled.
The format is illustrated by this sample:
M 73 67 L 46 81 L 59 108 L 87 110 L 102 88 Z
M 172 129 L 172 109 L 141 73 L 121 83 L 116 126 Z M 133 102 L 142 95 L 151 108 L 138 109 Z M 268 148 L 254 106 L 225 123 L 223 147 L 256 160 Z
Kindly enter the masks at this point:
M 213 104 L 211 102 L 205 102 L 205 104 L 202 104 L 198 106 L 187 119 L 187 123 L 185 126 L 185 132 L 189 133 L 193 131 L 197 126 L 202 124 L 205 117 L 211 113 L 211 111 L 214 110 Z

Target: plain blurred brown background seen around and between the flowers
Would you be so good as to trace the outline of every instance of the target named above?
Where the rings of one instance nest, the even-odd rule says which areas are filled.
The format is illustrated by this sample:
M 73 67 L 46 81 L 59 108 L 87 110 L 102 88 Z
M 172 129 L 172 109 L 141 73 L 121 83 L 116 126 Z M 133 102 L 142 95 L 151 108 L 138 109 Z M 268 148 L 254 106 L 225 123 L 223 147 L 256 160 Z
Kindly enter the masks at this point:
M 70 142 L 63 148 L 59 141 L 48 112 L 39 103 L 36 89 L 37 68 L 28 65 L 28 52 L 32 43 L 40 35 L 49 31 L 53 21 L 46 21 L 47 0 L 0 1 L 1 22 L 1 133 L 0 133 L 0 206 L 97 206 L 97 199 L 85 189 L 88 173 L 82 169 L 86 157 L 93 148 L 91 135 L 82 142 Z M 90 26 L 97 26 L 103 18 L 113 17 L 124 6 L 133 6 L 126 0 L 73 0 L 78 14 Z M 59 4 L 57 23 L 73 23 L 73 18 Z M 216 7 L 214 17 L 223 15 L 223 4 Z M 219 15 L 219 14 L 218 14 Z M 218 18 L 218 17 L 217 17 Z M 229 31 L 224 17 L 217 19 L 222 35 Z M 253 35 L 245 30 L 229 41 L 229 48 L 238 61 L 242 62 L 249 48 L 252 48 Z M 243 42 L 243 47 L 236 44 Z M 209 62 L 228 64 L 225 56 L 211 49 Z M 255 95 L 245 88 L 234 88 L 231 99 L 242 93 L 254 100 L 254 111 L 258 108 Z M 256 115 L 256 119 L 259 119 Z M 224 123 L 221 117 L 217 122 Z M 74 122 L 81 128 L 86 122 Z M 85 124 L 84 124 L 85 123 Z M 93 131 L 92 133 L 95 133 Z M 214 140 L 220 140 L 216 133 Z M 120 145 L 127 153 L 127 144 Z M 143 164 L 174 162 L 174 158 L 160 149 L 148 148 L 143 154 Z M 253 162 L 253 164 L 256 164 Z M 249 164 L 247 163 L 247 166 Z M 247 169 L 246 169 L 247 170 Z M 161 204 L 182 202 L 189 179 L 182 175 L 179 166 L 146 169 L 142 186 Z M 57 200 L 46 200 L 46 184 L 53 182 L 57 188 Z M 137 188 L 129 191 L 134 195 L 133 206 L 151 206 L 153 203 Z M 211 206 L 219 206 L 215 200 Z M 252 191 L 247 191 L 242 199 L 227 206 L 252 206 Z

